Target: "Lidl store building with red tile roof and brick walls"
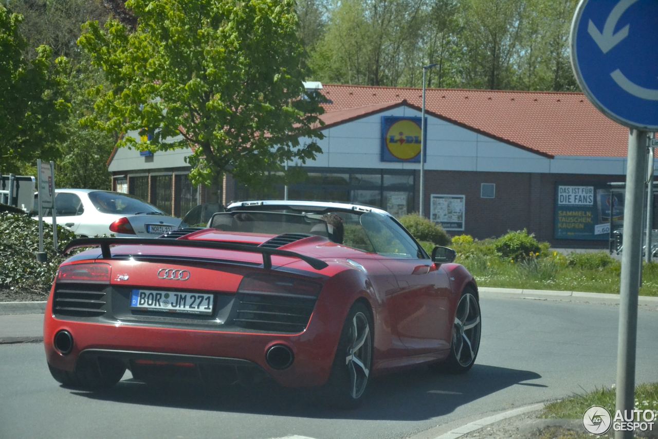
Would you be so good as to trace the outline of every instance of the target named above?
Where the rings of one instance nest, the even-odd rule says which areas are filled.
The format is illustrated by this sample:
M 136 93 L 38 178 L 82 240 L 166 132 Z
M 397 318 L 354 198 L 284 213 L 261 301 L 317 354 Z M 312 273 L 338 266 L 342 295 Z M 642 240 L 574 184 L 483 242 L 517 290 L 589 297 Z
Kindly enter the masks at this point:
M 525 228 L 557 247 L 607 247 L 609 225 L 623 221 L 624 194 L 611 194 L 609 183 L 625 180 L 628 129 L 583 94 L 427 90 L 420 200 L 421 90 L 320 87 L 328 100 L 322 154 L 303 165 L 307 177 L 291 185 L 290 199 L 359 202 L 395 216 L 422 202 L 451 235 Z M 114 190 L 176 216 L 205 202 L 259 198 L 258 188 L 230 177 L 193 187 L 189 149 L 143 154 L 114 150 Z M 275 198 L 283 196 L 280 187 Z

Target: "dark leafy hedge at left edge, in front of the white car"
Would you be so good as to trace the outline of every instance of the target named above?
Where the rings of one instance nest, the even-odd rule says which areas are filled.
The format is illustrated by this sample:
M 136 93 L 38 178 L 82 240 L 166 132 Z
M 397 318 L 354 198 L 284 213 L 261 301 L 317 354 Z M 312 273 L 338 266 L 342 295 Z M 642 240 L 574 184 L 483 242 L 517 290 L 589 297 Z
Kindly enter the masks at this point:
M 57 227 L 58 248 L 64 249 L 74 235 Z M 57 267 L 64 260 L 53 249 L 53 227 L 44 223 L 43 250 L 48 262 L 37 262 L 39 222 L 26 215 L 0 214 L 0 287 L 49 293 Z

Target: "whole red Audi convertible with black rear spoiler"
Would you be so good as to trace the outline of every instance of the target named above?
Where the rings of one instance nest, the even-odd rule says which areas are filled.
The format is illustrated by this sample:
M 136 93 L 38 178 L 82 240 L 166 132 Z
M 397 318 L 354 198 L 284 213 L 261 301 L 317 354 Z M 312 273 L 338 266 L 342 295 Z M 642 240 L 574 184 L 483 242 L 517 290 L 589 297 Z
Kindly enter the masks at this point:
M 357 405 L 374 374 L 473 365 L 480 307 L 455 252 L 430 257 L 393 216 L 356 204 L 238 202 L 203 229 L 84 238 L 45 310 L 55 380 L 211 384 L 270 376 Z

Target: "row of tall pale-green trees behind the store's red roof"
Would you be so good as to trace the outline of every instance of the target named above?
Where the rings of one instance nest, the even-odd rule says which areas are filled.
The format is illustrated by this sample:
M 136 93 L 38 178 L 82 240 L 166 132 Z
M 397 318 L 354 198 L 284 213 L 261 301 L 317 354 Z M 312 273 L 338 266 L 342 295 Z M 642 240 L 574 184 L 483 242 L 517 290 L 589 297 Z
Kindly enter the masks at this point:
M 576 0 L 342 0 L 310 47 L 324 82 L 576 90 L 569 26 Z M 303 20 L 303 18 L 301 18 Z

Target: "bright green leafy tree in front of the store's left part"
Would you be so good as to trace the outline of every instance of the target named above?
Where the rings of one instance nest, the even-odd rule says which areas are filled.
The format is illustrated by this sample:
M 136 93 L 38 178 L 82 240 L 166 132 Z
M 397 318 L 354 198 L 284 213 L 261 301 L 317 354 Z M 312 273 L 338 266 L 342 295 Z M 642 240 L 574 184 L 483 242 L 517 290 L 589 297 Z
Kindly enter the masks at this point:
M 231 173 L 262 181 L 284 161 L 314 158 L 320 96 L 304 96 L 307 74 L 294 1 L 129 0 L 130 32 L 89 22 L 78 44 L 103 69 L 88 127 L 151 134 L 118 146 L 152 151 L 191 146 L 195 184 Z M 300 142 L 299 138 L 307 139 Z

